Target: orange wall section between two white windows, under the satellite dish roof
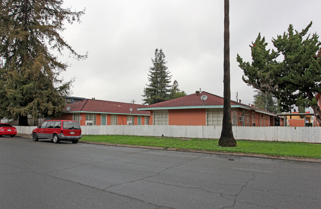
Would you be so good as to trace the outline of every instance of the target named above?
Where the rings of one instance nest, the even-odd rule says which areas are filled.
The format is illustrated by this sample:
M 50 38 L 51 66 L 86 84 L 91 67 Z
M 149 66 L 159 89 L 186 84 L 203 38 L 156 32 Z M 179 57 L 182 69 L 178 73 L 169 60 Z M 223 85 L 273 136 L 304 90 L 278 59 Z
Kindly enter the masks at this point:
M 168 125 L 206 125 L 206 109 L 168 110 Z

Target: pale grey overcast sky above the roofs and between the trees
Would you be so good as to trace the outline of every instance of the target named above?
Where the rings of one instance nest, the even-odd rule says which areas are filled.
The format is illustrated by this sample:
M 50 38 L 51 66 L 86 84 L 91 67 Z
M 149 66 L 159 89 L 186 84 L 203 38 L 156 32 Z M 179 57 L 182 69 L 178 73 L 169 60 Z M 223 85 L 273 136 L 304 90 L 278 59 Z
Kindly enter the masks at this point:
M 155 49 L 162 49 L 172 82 L 187 94 L 196 90 L 223 96 L 224 0 L 65 0 L 64 7 L 86 8 L 81 23 L 65 25 L 65 40 L 86 60 L 63 61 L 62 74 L 75 77 L 72 96 L 142 104 Z M 237 54 L 251 61 L 259 32 L 272 37 L 289 24 L 321 34 L 320 0 L 230 0 L 231 99 L 253 103 L 254 89 L 241 79 Z M 320 39 L 319 39 L 320 40 Z

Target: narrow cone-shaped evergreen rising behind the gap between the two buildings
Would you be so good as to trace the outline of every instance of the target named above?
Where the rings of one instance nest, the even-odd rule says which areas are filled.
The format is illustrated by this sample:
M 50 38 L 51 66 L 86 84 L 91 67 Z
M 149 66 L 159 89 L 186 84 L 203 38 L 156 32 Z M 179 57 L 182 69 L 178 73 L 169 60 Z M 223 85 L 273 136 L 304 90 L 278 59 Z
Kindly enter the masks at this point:
M 145 97 L 143 99 L 144 104 L 155 104 L 158 102 L 166 101 L 171 97 L 171 75 L 169 75 L 168 68 L 166 66 L 167 61 L 162 49 L 155 50 L 155 58 L 152 59 L 153 66 L 149 69 L 148 81 L 149 85 L 146 84 L 144 88 Z

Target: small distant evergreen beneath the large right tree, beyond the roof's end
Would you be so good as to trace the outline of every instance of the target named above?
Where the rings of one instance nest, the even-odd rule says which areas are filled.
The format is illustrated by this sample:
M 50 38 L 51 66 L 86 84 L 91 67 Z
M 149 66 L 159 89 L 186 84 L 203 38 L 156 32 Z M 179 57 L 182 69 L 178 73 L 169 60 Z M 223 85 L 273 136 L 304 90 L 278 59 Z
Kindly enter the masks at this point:
M 260 90 L 255 90 L 254 106 L 261 110 L 266 110 L 271 113 L 279 113 L 277 99 L 271 93 L 264 93 Z

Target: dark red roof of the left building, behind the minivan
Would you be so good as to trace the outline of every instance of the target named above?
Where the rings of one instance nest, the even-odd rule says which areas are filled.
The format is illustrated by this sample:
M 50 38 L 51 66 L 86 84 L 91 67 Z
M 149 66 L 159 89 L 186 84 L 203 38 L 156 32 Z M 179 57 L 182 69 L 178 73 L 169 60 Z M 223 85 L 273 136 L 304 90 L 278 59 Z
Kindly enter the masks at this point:
M 70 110 L 67 110 L 67 107 Z M 150 111 L 141 111 L 137 108 L 145 107 L 141 104 L 123 103 L 123 102 L 112 102 L 104 100 L 92 100 L 85 99 L 79 102 L 71 103 L 65 106 L 63 112 L 95 112 L 95 113 L 111 113 L 111 114 L 133 114 L 133 115 L 150 115 Z M 132 111 L 130 111 L 132 108 Z

